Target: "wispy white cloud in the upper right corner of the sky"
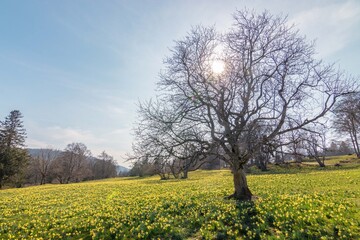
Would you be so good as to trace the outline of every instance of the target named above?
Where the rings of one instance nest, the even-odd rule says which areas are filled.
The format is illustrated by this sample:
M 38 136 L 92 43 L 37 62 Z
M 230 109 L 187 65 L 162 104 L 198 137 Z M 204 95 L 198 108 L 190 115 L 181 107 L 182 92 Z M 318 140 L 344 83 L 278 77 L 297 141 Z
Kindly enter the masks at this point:
M 360 23 L 360 2 L 340 1 L 314 7 L 296 14 L 292 19 L 302 33 L 317 40 L 316 49 L 321 57 L 342 50 L 356 38 Z

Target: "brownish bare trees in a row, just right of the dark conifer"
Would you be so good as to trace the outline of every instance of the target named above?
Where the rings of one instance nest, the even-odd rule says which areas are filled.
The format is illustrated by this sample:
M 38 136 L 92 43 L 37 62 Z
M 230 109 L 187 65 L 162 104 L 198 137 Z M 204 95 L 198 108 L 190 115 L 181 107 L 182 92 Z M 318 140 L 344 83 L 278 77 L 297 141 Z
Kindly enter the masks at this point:
M 63 184 L 116 176 L 112 156 L 103 151 L 95 158 L 83 143 L 71 143 L 63 151 L 46 148 L 32 154 L 26 180 L 30 184 Z

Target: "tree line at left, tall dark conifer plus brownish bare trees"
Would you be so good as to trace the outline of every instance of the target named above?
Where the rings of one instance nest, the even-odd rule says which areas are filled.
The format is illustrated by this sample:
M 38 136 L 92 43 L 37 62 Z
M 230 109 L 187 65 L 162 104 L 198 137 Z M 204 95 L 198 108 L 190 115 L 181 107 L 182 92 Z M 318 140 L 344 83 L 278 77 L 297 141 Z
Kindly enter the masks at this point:
M 25 148 L 26 130 L 19 110 L 0 121 L 0 188 L 5 184 L 71 183 L 117 176 L 112 156 L 103 151 L 93 157 L 83 143 L 71 143 L 60 151 L 52 148 L 35 152 Z

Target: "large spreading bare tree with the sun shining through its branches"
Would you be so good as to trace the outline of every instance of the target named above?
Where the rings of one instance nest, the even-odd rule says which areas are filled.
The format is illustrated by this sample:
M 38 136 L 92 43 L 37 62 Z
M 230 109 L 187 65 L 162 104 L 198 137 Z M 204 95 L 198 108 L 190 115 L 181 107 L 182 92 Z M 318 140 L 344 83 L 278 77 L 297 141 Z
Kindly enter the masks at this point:
M 226 34 L 196 27 L 176 41 L 164 61 L 161 94 L 146 108 L 171 131 L 196 129 L 197 138 L 184 140 L 201 145 L 203 154 L 219 149 L 217 157 L 233 174 L 229 197 L 250 200 L 244 165 L 264 145 L 318 121 L 354 91 L 352 79 L 313 56 L 314 45 L 286 18 L 238 11 Z M 215 71 L 221 64 L 224 71 Z

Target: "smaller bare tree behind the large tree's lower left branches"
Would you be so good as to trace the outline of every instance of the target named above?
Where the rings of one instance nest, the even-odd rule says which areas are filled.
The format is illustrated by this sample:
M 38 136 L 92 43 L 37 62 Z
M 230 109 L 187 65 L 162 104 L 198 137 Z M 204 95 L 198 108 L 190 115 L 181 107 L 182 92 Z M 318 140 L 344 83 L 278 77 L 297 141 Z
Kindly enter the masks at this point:
M 190 170 L 201 166 L 207 142 L 201 141 L 201 131 L 190 121 L 175 122 L 174 111 L 161 102 L 143 103 L 139 109 L 139 123 L 135 131 L 136 143 L 130 159 L 154 165 L 161 179 L 169 173 L 175 178 L 187 178 Z

